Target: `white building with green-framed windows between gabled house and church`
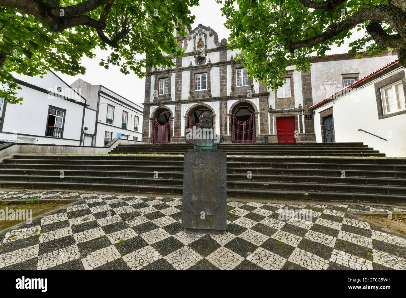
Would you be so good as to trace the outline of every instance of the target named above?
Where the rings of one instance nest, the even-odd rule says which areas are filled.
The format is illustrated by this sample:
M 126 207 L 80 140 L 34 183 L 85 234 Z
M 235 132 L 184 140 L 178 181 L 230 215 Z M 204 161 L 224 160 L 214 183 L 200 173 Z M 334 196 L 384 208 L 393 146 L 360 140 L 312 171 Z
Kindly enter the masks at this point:
M 89 109 L 96 112 L 97 122 L 93 124 L 95 146 L 104 146 L 117 137 L 142 140 L 143 107 L 102 85 L 91 85 L 82 79 L 74 81 L 71 87 L 79 90 L 86 98 Z

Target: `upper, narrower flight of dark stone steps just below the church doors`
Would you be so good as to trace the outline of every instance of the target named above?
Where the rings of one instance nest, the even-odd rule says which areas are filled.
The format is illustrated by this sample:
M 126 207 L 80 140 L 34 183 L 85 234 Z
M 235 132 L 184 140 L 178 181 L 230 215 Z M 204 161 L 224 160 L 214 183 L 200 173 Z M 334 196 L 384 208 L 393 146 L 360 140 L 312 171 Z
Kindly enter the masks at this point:
M 184 154 L 191 144 L 120 144 L 114 148 L 111 154 Z M 259 155 L 259 156 L 380 156 L 378 150 L 368 147 L 363 143 L 253 143 L 253 144 L 231 144 L 223 143 L 218 149 L 224 150 L 231 155 Z

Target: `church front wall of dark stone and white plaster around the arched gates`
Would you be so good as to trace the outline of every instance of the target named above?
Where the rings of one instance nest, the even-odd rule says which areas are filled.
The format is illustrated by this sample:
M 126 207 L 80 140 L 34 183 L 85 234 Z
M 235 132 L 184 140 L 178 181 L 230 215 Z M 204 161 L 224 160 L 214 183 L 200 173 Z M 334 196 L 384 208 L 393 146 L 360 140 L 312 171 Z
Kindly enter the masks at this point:
M 291 96 L 288 98 L 278 98 L 276 90 L 268 90 L 265 84 L 252 78 L 248 79 L 248 86 L 236 86 L 236 69 L 243 68 L 235 59 L 240 51 L 229 49 L 225 39 L 219 41 L 217 33 L 202 24 L 193 30 L 186 28 L 186 31 L 186 37 L 176 34 L 178 47 L 184 49 L 184 57 L 173 58 L 173 68 L 147 69 L 143 118 L 145 143 L 152 142 L 153 121 L 163 107 L 171 114 L 171 143 L 185 142 L 188 117 L 202 108 L 212 111 L 216 133 L 225 135 L 226 142 L 231 142 L 232 115 L 241 105 L 254 111 L 257 142 L 262 142 L 264 135 L 268 135 L 268 142 L 278 141 L 278 117 L 295 117 L 296 142 L 315 142 L 313 111 L 309 107 L 319 99 L 313 98 L 317 86 L 312 82 L 311 71 L 298 72 L 294 66 L 288 66 L 285 75 L 291 82 Z M 354 58 L 347 56 L 317 58 L 312 63 Z M 207 74 L 207 88 L 195 91 L 194 77 L 199 73 Z M 159 94 L 159 80 L 164 78 L 168 78 L 169 90 L 167 94 Z

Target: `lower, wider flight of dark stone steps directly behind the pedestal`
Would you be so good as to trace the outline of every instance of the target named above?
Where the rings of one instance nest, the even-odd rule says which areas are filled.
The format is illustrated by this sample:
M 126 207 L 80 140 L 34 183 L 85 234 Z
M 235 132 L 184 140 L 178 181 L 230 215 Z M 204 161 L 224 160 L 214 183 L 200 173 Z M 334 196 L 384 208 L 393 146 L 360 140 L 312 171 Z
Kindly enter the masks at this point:
M 367 151 L 367 147 L 360 148 Z M 123 154 L 16 155 L 0 163 L 0 184 L 19 189 L 181 194 L 183 159 Z M 155 171 L 158 178 L 153 178 Z M 229 155 L 227 195 L 406 204 L 406 159 Z

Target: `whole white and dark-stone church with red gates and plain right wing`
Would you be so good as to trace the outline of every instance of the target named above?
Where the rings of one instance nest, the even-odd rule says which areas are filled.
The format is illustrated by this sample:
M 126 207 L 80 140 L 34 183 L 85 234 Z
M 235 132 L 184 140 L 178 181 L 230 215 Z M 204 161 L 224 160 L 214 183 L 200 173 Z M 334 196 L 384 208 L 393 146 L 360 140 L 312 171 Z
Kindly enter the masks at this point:
M 229 49 L 210 27 L 199 24 L 176 34 L 183 58 L 173 68 L 147 69 L 143 118 L 145 143 L 184 143 L 186 129 L 199 126 L 199 116 L 209 111 L 217 134 L 226 142 L 315 142 L 313 111 L 309 109 L 358 79 L 387 64 L 395 56 L 354 59 L 338 54 L 314 57 L 308 73 L 288 66 L 286 81 L 268 90 L 248 77 L 235 62 L 238 49 Z

